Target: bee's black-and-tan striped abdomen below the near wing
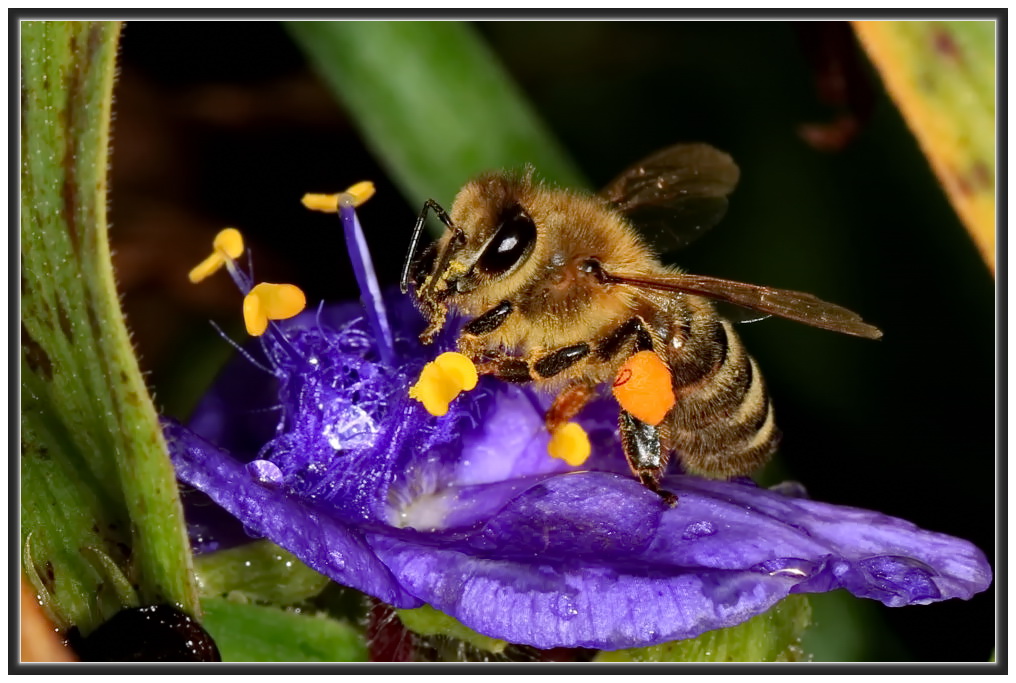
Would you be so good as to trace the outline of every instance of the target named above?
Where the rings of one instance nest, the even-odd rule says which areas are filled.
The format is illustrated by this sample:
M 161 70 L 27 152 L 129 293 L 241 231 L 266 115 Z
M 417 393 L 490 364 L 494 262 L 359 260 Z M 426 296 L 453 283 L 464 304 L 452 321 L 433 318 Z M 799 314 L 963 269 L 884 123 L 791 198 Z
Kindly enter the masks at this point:
M 751 474 L 779 441 L 765 382 L 728 321 L 697 297 L 685 304 L 666 339 L 678 401 L 661 425 L 663 448 L 692 474 Z

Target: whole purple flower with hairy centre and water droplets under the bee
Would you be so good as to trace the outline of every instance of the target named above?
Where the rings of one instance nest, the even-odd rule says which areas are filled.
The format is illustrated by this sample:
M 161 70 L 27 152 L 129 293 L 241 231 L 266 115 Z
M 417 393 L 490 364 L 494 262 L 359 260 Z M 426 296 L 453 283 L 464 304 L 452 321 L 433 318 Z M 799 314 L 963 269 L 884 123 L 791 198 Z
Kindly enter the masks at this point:
M 450 337 L 421 347 L 411 305 L 387 303 L 387 351 L 373 304 L 306 312 L 235 361 L 189 427 L 166 424 L 183 482 L 339 583 L 514 643 L 615 649 L 792 593 L 896 607 L 991 582 L 965 541 L 749 481 L 671 475 L 668 507 L 627 472 L 609 397 L 579 417 L 594 453 L 581 469 L 547 455 L 549 398 L 528 389 L 485 378 L 433 417 L 408 387 Z

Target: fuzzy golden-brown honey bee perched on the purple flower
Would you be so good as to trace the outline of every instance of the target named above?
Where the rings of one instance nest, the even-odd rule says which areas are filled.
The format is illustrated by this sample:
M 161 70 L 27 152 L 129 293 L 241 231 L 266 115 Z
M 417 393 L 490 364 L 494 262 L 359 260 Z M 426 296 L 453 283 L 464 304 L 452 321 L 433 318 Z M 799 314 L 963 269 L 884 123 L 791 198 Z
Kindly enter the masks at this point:
M 684 273 L 657 259 L 660 236 L 670 239 L 663 248 L 682 246 L 722 218 L 739 175 L 726 153 L 678 144 L 597 196 L 548 187 L 528 169 L 469 181 L 449 212 L 428 200 L 401 276 L 428 320 L 421 340 L 432 343 L 449 312 L 466 316 L 457 346 L 481 374 L 556 393 L 551 432 L 630 357 L 650 351 L 670 369 L 677 400 L 655 425 L 621 407 L 635 477 L 673 503 L 660 479 L 674 454 L 692 474 L 751 474 L 779 431 L 758 365 L 711 300 L 856 336 L 882 332 L 810 294 Z M 418 257 L 429 211 L 446 230 Z

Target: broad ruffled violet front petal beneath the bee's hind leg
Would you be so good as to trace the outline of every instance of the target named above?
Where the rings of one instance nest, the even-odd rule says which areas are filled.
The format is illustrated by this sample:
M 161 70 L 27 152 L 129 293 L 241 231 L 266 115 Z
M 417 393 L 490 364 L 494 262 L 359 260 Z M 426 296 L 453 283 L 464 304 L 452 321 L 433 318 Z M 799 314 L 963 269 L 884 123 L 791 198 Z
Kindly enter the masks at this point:
M 624 647 L 738 624 L 790 593 L 891 605 L 969 598 L 971 544 L 878 512 L 732 482 L 668 480 L 676 507 L 602 473 L 549 478 L 467 538 L 370 534 L 408 591 L 511 642 Z M 654 520 L 656 520 L 654 522 Z

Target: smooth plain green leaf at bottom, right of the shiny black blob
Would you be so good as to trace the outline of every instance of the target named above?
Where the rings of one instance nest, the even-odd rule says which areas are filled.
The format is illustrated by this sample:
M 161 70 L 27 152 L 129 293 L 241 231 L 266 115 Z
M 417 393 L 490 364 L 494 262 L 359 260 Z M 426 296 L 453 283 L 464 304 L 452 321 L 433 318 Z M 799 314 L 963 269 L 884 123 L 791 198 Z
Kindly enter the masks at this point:
M 201 600 L 203 626 L 224 662 L 366 662 L 367 643 L 352 625 L 324 615 Z

